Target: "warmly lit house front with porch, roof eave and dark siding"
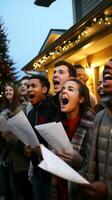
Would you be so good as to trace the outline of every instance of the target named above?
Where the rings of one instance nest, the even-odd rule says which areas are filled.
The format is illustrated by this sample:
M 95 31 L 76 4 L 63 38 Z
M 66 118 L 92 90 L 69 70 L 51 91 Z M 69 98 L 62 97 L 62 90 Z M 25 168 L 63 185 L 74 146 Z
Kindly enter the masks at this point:
M 88 87 L 97 96 L 103 66 L 112 58 L 112 0 L 72 0 L 72 4 L 74 25 L 43 48 L 23 70 L 46 70 L 52 82 L 57 61 L 80 63 L 90 77 Z

